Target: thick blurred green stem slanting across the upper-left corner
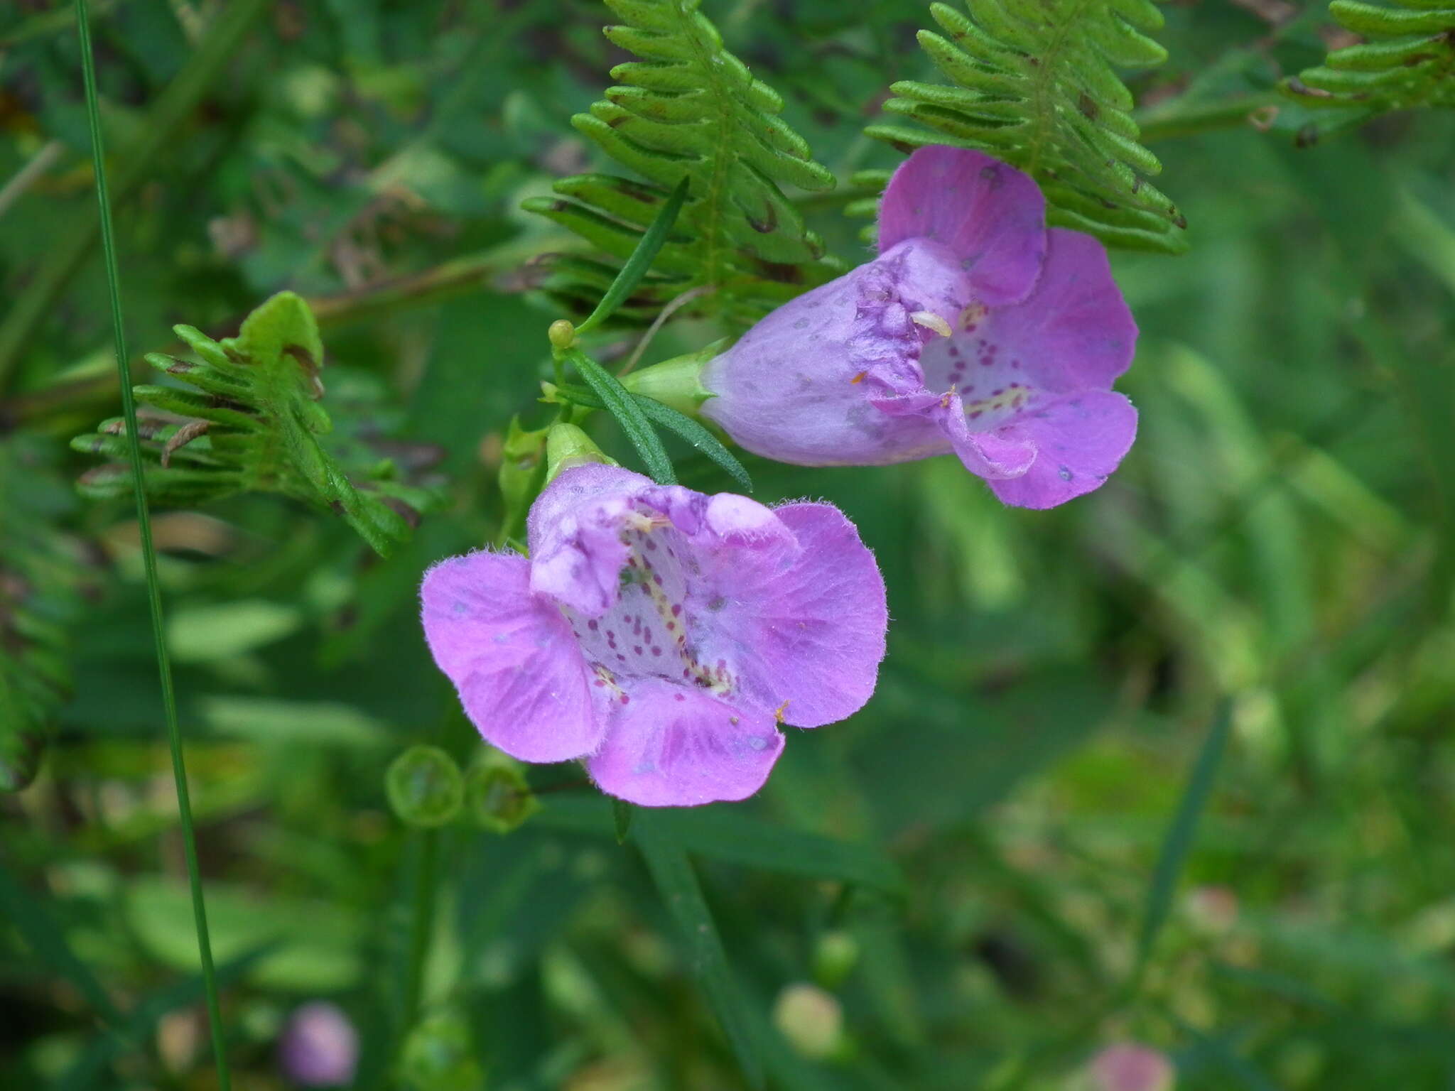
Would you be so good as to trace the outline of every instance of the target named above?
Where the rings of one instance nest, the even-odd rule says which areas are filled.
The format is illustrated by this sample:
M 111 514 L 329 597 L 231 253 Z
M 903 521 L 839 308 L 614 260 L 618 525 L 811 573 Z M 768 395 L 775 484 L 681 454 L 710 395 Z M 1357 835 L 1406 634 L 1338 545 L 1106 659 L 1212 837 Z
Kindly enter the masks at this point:
M 233 0 L 223 7 L 196 52 L 147 112 L 146 122 L 140 127 L 143 137 L 118 157 L 122 164 L 116 172 L 113 191 L 118 202 L 125 201 L 157 163 L 167 160 L 167 147 L 176 140 L 178 129 L 192 116 L 198 100 L 237 54 L 237 47 L 253 22 L 271 6 L 271 0 Z M 80 4 L 76 6 L 76 15 L 80 19 Z M 31 337 L 90 255 L 99 225 L 90 209 L 77 209 L 70 230 L 47 250 L 26 289 L 15 301 L 4 323 L 0 323 L 0 390 L 6 388 Z

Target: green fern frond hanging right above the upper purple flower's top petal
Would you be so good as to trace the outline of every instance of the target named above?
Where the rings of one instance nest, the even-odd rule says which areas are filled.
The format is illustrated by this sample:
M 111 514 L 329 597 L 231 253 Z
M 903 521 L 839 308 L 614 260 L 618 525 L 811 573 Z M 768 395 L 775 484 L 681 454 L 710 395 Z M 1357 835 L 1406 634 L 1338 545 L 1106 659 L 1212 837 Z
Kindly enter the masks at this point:
M 1139 143 L 1119 68 L 1161 64 L 1148 35 L 1163 25 L 1151 0 L 975 0 L 970 15 L 930 6 L 944 33 L 920 45 L 954 86 L 901 81 L 885 109 L 921 125 L 873 125 L 901 150 L 982 148 L 1029 173 L 1048 220 L 1109 246 L 1180 253 L 1186 220 L 1147 177 L 1161 163 Z

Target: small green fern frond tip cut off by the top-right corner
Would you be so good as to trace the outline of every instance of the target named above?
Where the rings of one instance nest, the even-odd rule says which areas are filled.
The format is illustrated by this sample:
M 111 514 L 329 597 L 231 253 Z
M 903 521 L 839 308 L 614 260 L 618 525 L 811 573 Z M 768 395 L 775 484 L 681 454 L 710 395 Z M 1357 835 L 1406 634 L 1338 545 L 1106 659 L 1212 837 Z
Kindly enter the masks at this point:
M 1455 6 L 1442 0 L 1333 0 L 1328 15 L 1366 41 L 1334 49 L 1282 83 L 1308 106 L 1352 106 L 1366 121 L 1391 111 L 1455 106 Z

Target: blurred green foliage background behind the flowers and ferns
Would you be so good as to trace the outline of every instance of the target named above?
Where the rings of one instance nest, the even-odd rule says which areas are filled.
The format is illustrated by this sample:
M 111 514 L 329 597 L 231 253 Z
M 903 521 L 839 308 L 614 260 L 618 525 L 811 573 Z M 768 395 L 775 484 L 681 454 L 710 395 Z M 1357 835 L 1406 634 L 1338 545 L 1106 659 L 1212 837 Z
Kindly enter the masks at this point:
M 275 497 L 157 513 L 234 1085 L 292 1087 L 279 1028 L 330 998 L 361 1088 L 745 1087 L 694 982 L 710 944 L 678 943 L 579 771 L 530 770 L 543 809 L 505 836 L 409 831 L 384 797 L 410 743 L 483 749 L 415 594 L 493 538 L 505 428 L 544 419 L 560 316 L 530 289 L 576 243 L 518 205 L 602 164 L 569 118 L 623 60 L 605 9 L 95 7 L 132 349 L 294 288 L 330 394 L 381 387 L 356 423 L 448 474 L 387 560 Z M 922 4 L 706 12 L 841 179 L 812 225 L 864 259 L 847 179 L 898 161 L 861 128 L 931 77 Z M 893 615 L 863 713 L 794 732 L 749 803 L 652 816 L 771 1087 L 1074 1088 L 1125 1040 L 1184 1088 L 1455 1085 L 1455 119 L 1308 145 L 1296 108 L 1243 118 L 1323 57 L 1318 3 L 1165 16 L 1171 60 L 1132 86 L 1193 249 L 1113 256 L 1141 435 L 1106 487 L 1030 512 L 949 458 L 745 460 L 758 499 L 856 519 Z M 208 1088 L 134 512 L 70 484 L 93 461 L 67 441 L 116 403 L 79 71 L 68 4 L 4 6 L 0 532 L 68 567 L 55 628 L 3 630 L 0 656 L 49 642 L 74 697 L 0 797 L 0 1087 Z M 1202 109 L 1227 102 L 1247 111 Z M 717 333 L 674 323 L 649 359 Z M 431 1060 L 400 1072 L 416 966 Z

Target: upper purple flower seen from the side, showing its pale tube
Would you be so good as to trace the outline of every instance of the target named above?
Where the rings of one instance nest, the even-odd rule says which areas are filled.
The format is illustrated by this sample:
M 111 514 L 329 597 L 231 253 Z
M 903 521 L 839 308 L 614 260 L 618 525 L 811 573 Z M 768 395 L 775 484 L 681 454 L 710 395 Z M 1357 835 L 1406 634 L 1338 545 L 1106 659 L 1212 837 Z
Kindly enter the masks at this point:
M 979 151 L 915 151 L 889 182 L 879 257 L 765 317 L 707 364 L 703 415 L 800 465 L 953 451 L 1004 502 L 1099 487 L 1136 435 L 1112 381 L 1136 323 L 1106 250 Z

